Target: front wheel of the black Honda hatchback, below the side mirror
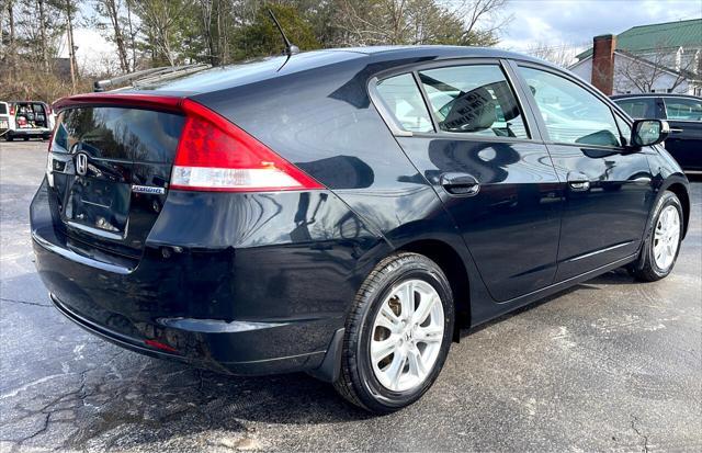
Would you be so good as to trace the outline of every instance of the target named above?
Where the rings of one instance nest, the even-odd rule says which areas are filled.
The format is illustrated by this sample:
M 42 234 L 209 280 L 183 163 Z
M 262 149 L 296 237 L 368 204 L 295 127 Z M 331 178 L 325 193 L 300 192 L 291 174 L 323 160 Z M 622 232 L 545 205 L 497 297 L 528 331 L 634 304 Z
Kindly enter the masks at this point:
M 664 192 L 652 218 L 638 260 L 629 267 L 630 273 L 643 282 L 665 279 L 676 265 L 683 227 L 678 196 L 670 191 Z

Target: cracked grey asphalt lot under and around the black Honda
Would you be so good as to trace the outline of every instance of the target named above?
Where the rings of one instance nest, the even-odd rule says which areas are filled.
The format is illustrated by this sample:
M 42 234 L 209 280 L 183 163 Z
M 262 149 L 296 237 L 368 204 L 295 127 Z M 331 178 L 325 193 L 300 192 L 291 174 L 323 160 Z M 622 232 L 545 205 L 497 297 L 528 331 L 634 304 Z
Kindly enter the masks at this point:
M 0 452 L 702 450 L 702 183 L 668 279 L 612 272 L 465 332 L 418 404 L 372 417 L 305 374 L 217 375 L 65 319 L 32 262 L 45 149 L 0 143 Z

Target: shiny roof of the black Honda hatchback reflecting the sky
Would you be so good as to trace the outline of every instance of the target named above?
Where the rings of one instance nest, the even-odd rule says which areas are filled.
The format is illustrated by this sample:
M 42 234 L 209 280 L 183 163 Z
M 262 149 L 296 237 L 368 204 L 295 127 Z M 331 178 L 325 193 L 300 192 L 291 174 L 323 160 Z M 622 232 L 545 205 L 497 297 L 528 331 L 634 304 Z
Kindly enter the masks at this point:
M 199 94 L 335 65 L 351 64 L 362 68 L 370 64 L 392 64 L 393 61 L 399 64 L 452 58 L 512 58 L 553 67 L 553 65 L 537 58 L 491 47 L 430 45 L 348 47 L 303 52 L 291 57 L 282 55 L 268 57 L 144 83 L 139 83 L 137 80 L 128 90 Z

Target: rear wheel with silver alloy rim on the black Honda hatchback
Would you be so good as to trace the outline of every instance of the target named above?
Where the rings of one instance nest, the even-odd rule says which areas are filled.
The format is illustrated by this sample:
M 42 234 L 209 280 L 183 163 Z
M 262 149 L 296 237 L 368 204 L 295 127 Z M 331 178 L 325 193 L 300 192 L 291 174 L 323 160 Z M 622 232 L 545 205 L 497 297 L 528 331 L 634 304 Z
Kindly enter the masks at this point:
M 372 412 L 409 406 L 439 376 L 453 325 L 451 286 L 437 263 L 417 253 L 386 258 L 354 299 L 335 387 Z

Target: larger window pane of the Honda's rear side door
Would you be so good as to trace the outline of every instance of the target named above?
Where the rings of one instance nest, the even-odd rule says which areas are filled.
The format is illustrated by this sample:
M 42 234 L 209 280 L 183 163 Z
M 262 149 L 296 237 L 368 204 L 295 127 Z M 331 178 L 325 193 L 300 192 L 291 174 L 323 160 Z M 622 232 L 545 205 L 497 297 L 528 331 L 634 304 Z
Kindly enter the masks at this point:
M 528 138 L 522 114 L 496 65 L 455 66 L 419 72 L 439 128 Z

